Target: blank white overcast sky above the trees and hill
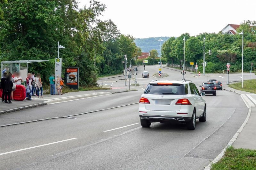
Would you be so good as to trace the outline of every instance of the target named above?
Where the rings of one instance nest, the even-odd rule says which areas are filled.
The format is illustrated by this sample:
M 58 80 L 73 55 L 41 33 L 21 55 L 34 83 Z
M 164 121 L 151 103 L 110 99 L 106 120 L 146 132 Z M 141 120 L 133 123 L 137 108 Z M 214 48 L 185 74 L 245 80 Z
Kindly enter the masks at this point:
M 79 0 L 79 7 L 90 0 Z M 122 34 L 134 38 L 219 32 L 227 24 L 256 20 L 256 0 L 100 0 Z

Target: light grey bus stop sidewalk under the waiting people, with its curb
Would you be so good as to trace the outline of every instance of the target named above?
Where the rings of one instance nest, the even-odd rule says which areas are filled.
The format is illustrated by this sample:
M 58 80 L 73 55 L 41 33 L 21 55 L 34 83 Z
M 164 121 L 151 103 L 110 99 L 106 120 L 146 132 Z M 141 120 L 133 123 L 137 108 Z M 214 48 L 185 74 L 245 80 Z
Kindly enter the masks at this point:
M 79 92 L 69 92 L 65 93 L 62 96 L 58 95 L 43 95 L 43 99 L 37 98 L 37 96 L 32 96 L 32 100 L 23 100 L 23 101 L 12 101 L 12 104 L 0 102 L 0 115 L 5 113 L 10 113 L 18 110 L 28 109 L 31 107 L 37 107 L 47 104 L 47 101 L 63 101 L 65 100 L 74 100 L 78 98 L 86 98 L 89 95 L 103 95 L 106 93 L 118 93 L 126 91 L 126 89 L 109 89 L 109 90 L 90 90 L 90 91 L 79 91 Z

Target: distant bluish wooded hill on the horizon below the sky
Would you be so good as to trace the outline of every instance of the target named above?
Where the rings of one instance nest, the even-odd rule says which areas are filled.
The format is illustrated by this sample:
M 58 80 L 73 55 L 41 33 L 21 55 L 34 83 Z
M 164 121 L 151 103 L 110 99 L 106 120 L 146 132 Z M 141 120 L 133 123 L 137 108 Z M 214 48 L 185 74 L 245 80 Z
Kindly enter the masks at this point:
M 136 46 L 140 47 L 142 52 L 149 52 L 152 49 L 156 49 L 157 53 L 160 54 L 160 42 L 158 40 L 163 39 L 163 41 L 161 41 L 161 44 L 163 44 L 169 38 L 170 37 L 150 37 L 144 39 L 136 38 L 134 42 Z

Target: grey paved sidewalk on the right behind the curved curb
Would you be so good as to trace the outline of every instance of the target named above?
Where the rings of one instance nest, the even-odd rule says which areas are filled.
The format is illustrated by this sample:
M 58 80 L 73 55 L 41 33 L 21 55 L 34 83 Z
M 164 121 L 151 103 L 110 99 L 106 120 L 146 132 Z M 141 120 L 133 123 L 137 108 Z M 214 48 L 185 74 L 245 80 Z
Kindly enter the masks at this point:
M 235 142 L 232 144 L 234 148 L 245 148 L 256 150 L 256 95 L 246 91 L 240 91 L 226 86 L 225 90 L 240 94 L 249 108 L 248 114 L 250 117 L 246 122 L 244 128 L 237 136 Z M 251 96 L 251 97 L 250 97 Z

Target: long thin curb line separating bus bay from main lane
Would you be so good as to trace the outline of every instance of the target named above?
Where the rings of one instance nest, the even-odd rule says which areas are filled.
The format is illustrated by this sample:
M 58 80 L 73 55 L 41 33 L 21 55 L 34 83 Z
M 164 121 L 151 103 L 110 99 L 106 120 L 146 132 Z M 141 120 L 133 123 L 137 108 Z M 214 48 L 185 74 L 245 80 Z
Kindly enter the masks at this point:
M 71 117 L 71 116 L 84 115 L 84 114 L 94 113 L 94 112 L 98 112 L 98 111 L 104 111 L 104 110 L 115 109 L 115 108 L 124 107 L 124 106 L 130 106 L 130 105 L 138 104 L 138 103 L 139 102 L 131 103 L 131 104 L 126 104 L 126 105 L 121 105 L 121 106 L 115 106 L 115 107 L 106 108 L 106 109 L 93 110 L 93 111 L 88 111 L 88 112 L 84 112 L 84 113 L 78 113 L 78 114 L 75 114 L 75 115 L 60 116 L 60 117 L 50 117 L 50 118 L 45 118 L 45 119 L 37 119 L 37 120 L 31 120 L 31 121 L 19 122 L 19 123 L 13 123 L 13 124 L 4 124 L 4 125 L 0 125 L 0 127 L 12 126 L 12 125 L 17 125 L 17 124 L 26 124 L 26 123 L 31 123 L 31 122 L 39 122 L 39 121 L 50 120 L 50 119 L 58 119 L 58 118 L 65 118 L 65 117 Z

